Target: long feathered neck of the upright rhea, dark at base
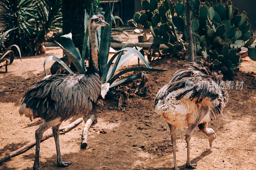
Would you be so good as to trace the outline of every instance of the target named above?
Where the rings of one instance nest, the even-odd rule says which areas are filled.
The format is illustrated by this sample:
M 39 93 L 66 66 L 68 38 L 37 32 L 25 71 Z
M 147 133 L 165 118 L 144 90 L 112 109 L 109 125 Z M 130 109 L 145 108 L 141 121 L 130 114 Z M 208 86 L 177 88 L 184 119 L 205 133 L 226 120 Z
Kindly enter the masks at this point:
M 100 63 L 99 63 L 99 47 L 97 41 L 97 27 L 91 26 L 91 20 L 88 21 L 89 41 L 91 45 L 89 68 L 87 74 L 98 73 L 101 76 Z

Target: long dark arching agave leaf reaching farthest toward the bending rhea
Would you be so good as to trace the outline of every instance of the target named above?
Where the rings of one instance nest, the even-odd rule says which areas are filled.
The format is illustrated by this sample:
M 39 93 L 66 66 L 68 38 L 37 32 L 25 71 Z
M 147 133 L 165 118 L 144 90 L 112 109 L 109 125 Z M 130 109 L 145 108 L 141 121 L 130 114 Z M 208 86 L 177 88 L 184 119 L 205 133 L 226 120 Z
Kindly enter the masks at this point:
M 112 77 L 110 80 L 108 80 L 108 83 L 111 85 L 119 76 L 131 72 L 131 71 L 167 71 L 165 69 L 153 69 L 153 68 L 148 68 L 148 67 L 132 67 L 126 70 L 123 70 L 116 74 L 114 77 Z

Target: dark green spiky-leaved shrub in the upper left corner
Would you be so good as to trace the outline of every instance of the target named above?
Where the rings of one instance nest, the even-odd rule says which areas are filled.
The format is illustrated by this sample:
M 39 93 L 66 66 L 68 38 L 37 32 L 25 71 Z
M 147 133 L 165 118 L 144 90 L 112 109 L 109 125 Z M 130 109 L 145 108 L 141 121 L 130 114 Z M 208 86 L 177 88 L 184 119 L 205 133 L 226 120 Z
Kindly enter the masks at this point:
M 0 22 L 3 32 L 13 30 L 4 46 L 17 44 L 22 55 L 40 54 L 43 42 L 50 31 L 61 29 L 61 0 L 0 0 Z

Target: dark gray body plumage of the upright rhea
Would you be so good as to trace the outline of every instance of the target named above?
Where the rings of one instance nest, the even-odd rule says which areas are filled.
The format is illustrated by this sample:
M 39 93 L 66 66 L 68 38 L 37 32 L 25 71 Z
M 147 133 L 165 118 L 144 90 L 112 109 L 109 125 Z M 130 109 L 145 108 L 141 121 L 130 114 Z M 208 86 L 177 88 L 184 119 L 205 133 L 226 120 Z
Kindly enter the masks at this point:
M 22 103 L 33 110 L 34 117 L 50 121 L 60 116 L 63 121 L 90 112 L 100 89 L 97 75 L 53 75 L 33 85 Z

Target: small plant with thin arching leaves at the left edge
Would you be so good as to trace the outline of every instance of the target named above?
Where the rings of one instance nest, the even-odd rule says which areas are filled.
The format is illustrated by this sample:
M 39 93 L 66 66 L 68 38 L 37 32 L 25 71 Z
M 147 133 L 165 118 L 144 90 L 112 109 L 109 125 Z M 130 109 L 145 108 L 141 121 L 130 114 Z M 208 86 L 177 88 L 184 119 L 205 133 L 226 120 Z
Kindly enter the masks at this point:
M 0 44 L 2 44 L 2 42 L 4 41 L 4 38 L 6 37 L 6 35 L 8 35 L 8 33 L 12 30 L 14 30 L 16 28 L 10 29 L 6 32 L 3 33 L 1 39 L 0 39 Z M 10 47 L 8 47 L 7 49 L 5 49 L 5 51 L 3 52 L 2 55 L 0 55 L 0 68 L 5 66 L 5 72 L 7 72 L 7 65 L 8 64 L 12 64 L 13 60 L 14 60 L 14 52 L 11 50 L 12 47 L 16 47 L 19 55 L 20 55 L 20 60 L 21 60 L 21 54 L 20 54 L 20 48 L 17 45 L 11 45 Z M 9 56 L 8 56 L 9 54 Z M 10 62 L 8 61 L 8 59 L 10 59 Z M 1 64 L 3 62 L 6 62 L 5 64 Z

